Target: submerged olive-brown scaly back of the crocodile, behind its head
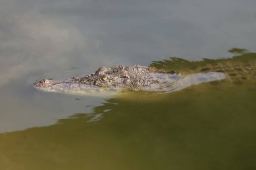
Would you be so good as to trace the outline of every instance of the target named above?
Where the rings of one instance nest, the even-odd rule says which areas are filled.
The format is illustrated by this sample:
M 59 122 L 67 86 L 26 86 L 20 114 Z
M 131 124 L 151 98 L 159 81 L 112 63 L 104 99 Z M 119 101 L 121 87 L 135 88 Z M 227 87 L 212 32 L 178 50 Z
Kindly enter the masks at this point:
M 226 79 L 220 82 L 232 84 L 255 81 L 256 79 L 256 53 L 252 52 L 217 60 L 203 59 L 201 61 L 189 61 L 174 57 L 160 62 L 153 62 L 150 66 L 166 71 L 174 70 L 183 75 L 221 72 L 226 75 Z

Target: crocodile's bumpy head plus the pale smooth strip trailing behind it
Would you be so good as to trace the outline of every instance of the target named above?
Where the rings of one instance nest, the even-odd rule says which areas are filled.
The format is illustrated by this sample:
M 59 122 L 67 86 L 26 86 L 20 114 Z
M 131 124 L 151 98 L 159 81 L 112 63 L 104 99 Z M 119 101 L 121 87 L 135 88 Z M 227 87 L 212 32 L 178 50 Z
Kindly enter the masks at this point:
M 219 72 L 193 73 L 181 75 L 174 71 L 156 70 L 154 67 L 117 66 L 100 67 L 95 73 L 54 81 L 42 79 L 34 86 L 42 91 L 67 93 L 129 90 L 129 91 L 177 91 L 199 83 L 225 79 L 226 75 Z

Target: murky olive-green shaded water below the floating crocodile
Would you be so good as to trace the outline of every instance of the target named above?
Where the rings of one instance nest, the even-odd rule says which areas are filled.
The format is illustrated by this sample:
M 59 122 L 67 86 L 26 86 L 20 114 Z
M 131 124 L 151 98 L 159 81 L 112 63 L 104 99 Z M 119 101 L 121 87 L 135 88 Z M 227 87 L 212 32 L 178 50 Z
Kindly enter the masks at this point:
M 238 54 L 228 62 L 253 65 L 255 58 Z M 173 69 L 171 63 L 153 65 Z M 251 74 L 241 83 L 202 83 L 167 94 L 123 92 L 90 114 L 0 134 L 0 169 L 256 169 Z

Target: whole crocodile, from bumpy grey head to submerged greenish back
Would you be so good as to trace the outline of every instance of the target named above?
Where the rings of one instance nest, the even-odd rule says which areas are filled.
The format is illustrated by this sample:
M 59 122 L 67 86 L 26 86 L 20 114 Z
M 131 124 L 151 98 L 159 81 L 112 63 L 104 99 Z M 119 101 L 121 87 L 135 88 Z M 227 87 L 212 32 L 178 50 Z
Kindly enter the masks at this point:
M 164 70 L 159 68 L 159 62 L 150 67 L 140 65 L 117 67 L 100 67 L 95 73 L 86 76 L 76 76 L 55 81 L 42 79 L 34 83 L 36 89 L 42 91 L 55 91 L 67 93 L 80 93 L 92 91 L 178 91 L 205 82 L 216 82 L 224 79 L 230 81 L 243 81 L 255 73 L 255 65 L 244 62 L 234 62 L 235 58 L 221 60 L 205 60 L 203 62 L 190 62 L 181 58 L 171 58 L 167 62 L 177 65 L 186 65 L 189 69 L 183 71 Z M 213 62 L 214 61 L 214 62 Z M 165 62 L 165 64 L 168 64 Z M 192 63 L 192 64 L 191 64 Z M 201 64 L 203 65 L 201 65 Z M 195 65 L 196 64 L 196 65 Z M 161 65 L 164 66 L 164 65 Z M 158 68 L 158 69 L 156 69 Z M 170 67 L 174 68 L 175 67 Z M 178 72 L 179 71 L 179 72 Z

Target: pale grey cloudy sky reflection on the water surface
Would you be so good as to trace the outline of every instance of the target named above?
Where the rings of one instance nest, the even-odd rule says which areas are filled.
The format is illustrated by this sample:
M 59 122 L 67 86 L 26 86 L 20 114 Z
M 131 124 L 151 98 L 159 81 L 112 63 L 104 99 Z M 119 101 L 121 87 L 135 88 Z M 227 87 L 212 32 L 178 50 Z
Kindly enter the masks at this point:
M 253 0 L 0 1 L 0 131 L 51 115 L 36 114 L 40 103 L 30 101 L 36 79 L 86 75 L 102 65 L 150 65 L 168 56 L 220 58 L 233 47 L 253 51 L 255 19 Z M 59 100 L 72 103 L 67 98 Z M 88 105 L 102 102 L 86 98 Z M 59 118 L 83 110 L 69 111 Z

